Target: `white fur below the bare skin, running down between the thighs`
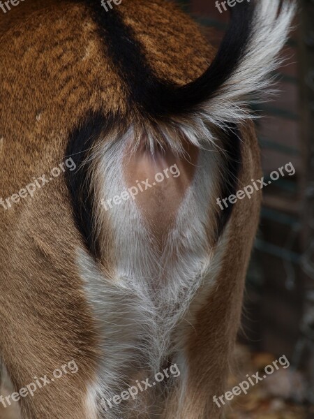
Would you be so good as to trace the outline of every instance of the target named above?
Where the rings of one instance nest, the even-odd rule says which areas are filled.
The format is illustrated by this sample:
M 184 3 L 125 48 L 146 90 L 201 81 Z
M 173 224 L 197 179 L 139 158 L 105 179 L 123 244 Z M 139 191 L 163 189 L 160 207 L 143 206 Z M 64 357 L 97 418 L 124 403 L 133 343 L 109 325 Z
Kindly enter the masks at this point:
M 126 189 L 122 163 L 127 138 L 130 133 L 120 140 L 105 142 L 102 147 L 103 159 L 98 163 L 96 175 L 103 174 L 105 199 Z M 134 200 L 124 201 L 108 212 L 98 209 L 100 228 L 102 216 L 109 217 L 114 232 L 115 263 L 114 274 L 109 278 L 85 251 L 80 250 L 77 258 L 103 349 L 89 403 L 91 397 L 96 403 L 96 399 L 99 402 L 102 397 L 112 399 L 119 395 L 138 372 L 142 371 L 142 378 L 154 376 L 168 358 L 182 364 L 185 342 L 178 330 L 183 323 L 189 325 L 193 321 L 189 310 L 194 304 L 197 307 L 202 304 L 220 265 L 209 249 L 206 231 L 218 166 L 216 153 L 200 151 L 193 182 L 161 255 Z M 186 366 L 181 368 L 185 370 Z M 184 380 L 184 376 L 183 371 L 176 380 Z M 128 409 L 128 404 L 115 406 L 106 412 L 106 418 L 120 418 L 122 413 L 127 417 Z

